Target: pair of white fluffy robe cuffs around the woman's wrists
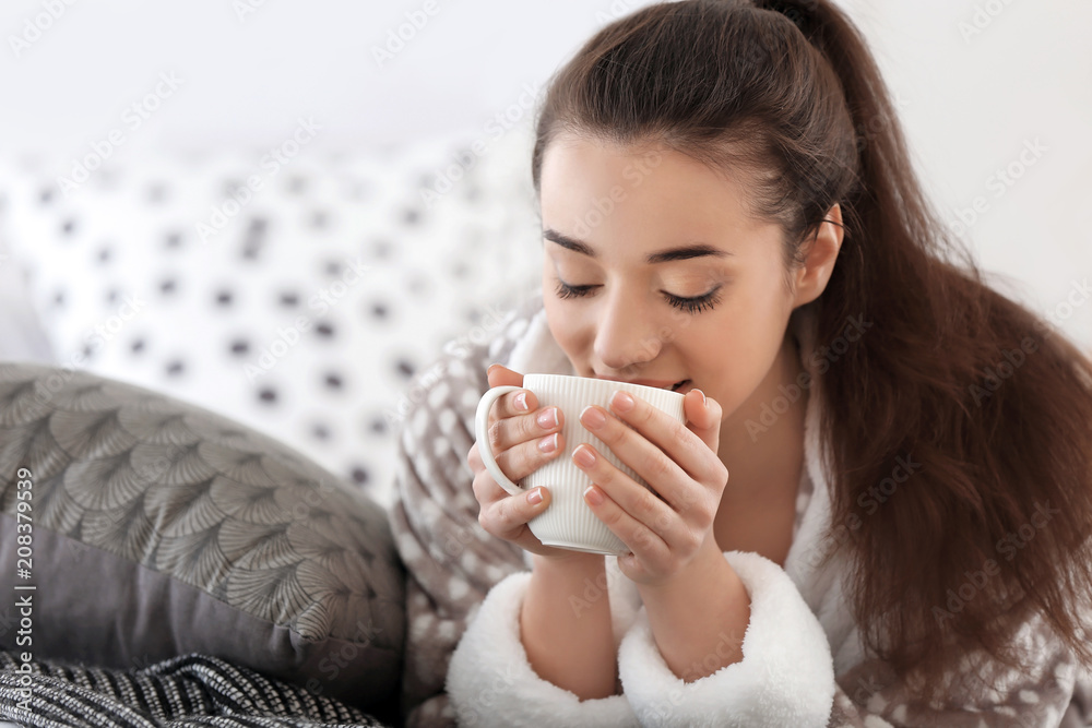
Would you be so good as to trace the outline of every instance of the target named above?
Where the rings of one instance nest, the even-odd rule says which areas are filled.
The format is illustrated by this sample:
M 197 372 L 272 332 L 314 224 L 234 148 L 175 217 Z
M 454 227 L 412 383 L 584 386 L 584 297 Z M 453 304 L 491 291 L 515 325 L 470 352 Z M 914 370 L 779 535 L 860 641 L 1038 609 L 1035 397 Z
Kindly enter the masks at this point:
M 757 553 L 724 556 L 751 599 L 744 659 L 693 682 L 676 678 L 644 608 L 633 616 L 637 589 L 618 578 L 617 559 L 608 557 L 612 614 L 616 628 L 626 628 L 618 651 L 624 694 L 583 702 L 531 668 L 519 626 L 531 574 L 508 576 L 489 592 L 448 668 L 459 725 L 823 728 L 834 672 L 822 625 L 781 566 Z

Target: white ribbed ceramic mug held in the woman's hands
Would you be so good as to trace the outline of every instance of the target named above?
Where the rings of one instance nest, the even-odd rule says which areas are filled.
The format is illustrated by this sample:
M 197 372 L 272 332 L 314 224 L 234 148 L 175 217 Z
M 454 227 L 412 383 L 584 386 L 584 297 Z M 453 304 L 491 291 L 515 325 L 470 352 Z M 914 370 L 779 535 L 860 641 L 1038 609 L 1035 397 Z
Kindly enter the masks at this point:
M 538 398 L 539 407 L 558 407 L 563 413 L 561 435 L 565 451 L 537 470 L 523 478 L 520 485 L 508 479 L 497 465 L 489 450 L 489 409 L 499 397 L 519 390 L 530 390 Z M 600 405 L 608 413 L 612 395 L 618 390 L 629 392 L 652 406 L 682 422 L 682 396 L 670 390 L 657 390 L 641 384 L 627 384 L 603 379 L 567 377 L 563 374 L 524 374 L 523 386 L 495 386 L 478 402 L 475 417 L 475 437 L 482 461 L 492 479 L 513 496 L 546 486 L 550 504 L 527 525 L 545 546 L 575 551 L 621 556 L 629 548 L 614 535 L 584 503 L 584 490 L 592 480 L 572 462 L 572 451 L 581 443 L 589 443 L 615 467 L 637 482 L 648 487 L 633 470 L 619 461 L 607 445 L 580 423 L 580 413 L 587 405 Z

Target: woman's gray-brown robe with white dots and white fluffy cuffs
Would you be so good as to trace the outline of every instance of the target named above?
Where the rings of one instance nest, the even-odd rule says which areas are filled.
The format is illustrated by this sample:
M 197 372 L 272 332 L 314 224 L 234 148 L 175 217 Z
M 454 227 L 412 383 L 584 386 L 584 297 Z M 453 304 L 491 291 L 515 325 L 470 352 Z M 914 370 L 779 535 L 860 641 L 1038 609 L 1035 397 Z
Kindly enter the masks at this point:
M 807 358 L 814 336 L 806 319 L 795 324 Z M 1014 636 L 1035 656 L 1034 670 L 1018 673 L 966 654 L 943 676 L 950 685 L 943 703 L 915 702 L 885 664 L 863 653 L 843 589 L 848 564 L 833 559 L 818 569 L 812 558 L 832 548 L 829 477 L 818 455 L 818 397 L 811 397 L 816 407 L 809 404 L 807 416 L 805 510 L 784 569 L 758 554 L 725 554 L 751 595 L 744 659 L 684 682 L 660 657 L 648 620 L 619 613 L 614 626 L 627 632 L 618 663 L 622 695 L 581 702 L 537 678 L 520 644 L 517 618 L 530 558 L 478 525 L 465 457 L 490 362 L 520 372 L 572 371 L 545 326 L 541 295 L 487 335 L 472 334 L 453 342 L 418 375 L 400 408 L 391 525 L 408 571 L 402 697 L 407 725 L 455 725 L 456 714 L 459 725 L 506 727 L 1092 725 L 1092 680 L 1040 619 Z M 627 582 L 608 574 L 613 618 L 615 605 L 636 594 Z M 453 661 L 456 647 L 460 659 Z

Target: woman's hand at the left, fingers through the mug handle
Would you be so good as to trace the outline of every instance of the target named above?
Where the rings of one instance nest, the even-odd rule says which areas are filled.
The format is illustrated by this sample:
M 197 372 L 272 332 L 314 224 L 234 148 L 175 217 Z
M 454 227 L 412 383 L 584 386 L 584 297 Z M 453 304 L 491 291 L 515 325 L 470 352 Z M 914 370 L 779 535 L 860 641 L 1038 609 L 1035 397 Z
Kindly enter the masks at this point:
M 510 384 L 523 386 L 523 374 L 494 365 L 487 372 L 489 386 Z M 497 465 L 509 480 L 518 482 L 565 449 L 561 437 L 563 415 L 558 407 L 538 407 L 534 392 L 509 392 L 494 404 L 489 413 L 489 444 Z M 474 497 L 480 511 L 478 523 L 497 538 L 520 548 L 558 560 L 587 560 L 595 554 L 543 546 L 531 533 L 527 522 L 549 505 L 549 490 L 543 487 L 518 496 L 510 494 L 485 469 L 478 443 L 466 453 L 466 464 L 474 473 Z

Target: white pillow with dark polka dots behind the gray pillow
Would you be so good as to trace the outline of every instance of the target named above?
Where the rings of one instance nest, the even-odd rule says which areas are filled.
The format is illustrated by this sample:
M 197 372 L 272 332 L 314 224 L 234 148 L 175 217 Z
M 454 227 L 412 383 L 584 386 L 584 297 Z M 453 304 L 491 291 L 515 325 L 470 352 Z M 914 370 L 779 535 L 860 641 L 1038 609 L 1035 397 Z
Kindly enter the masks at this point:
M 71 160 L 0 188 L 57 363 L 245 422 L 387 504 L 411 377 L 538 286 L 531 148 L 119 154 L 63 191 Z

